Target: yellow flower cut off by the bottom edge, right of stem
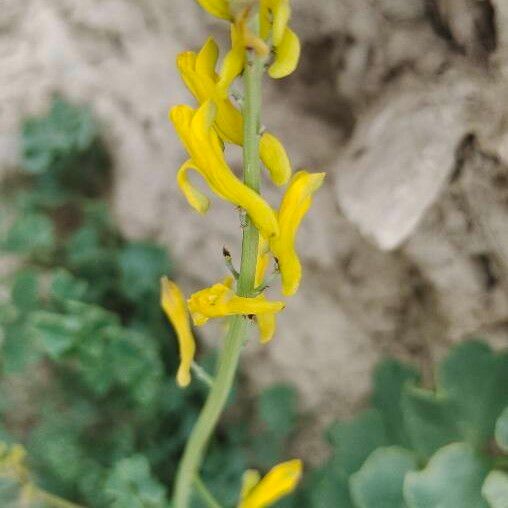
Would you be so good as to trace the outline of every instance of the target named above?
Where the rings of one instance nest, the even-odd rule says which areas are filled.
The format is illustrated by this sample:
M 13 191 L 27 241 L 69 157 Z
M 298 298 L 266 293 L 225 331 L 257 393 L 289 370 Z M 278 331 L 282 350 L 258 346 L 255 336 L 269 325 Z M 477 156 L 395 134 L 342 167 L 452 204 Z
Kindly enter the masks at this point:
M 257 471 L 247 471 L 243 477 L 238 508 L 265 508 L 272 505 L 293 492 L 301 476 L 302 462 L 298 459 L 275 466 L 261 480 Z

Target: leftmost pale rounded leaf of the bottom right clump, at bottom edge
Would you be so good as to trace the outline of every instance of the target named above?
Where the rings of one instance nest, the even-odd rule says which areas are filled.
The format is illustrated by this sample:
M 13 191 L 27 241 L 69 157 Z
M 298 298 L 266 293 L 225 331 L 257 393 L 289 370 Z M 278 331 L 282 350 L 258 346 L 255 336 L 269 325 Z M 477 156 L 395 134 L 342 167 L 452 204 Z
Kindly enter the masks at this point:
M 404 478 L 417 469 L 416 457 L 404 448 L 378 448 L 351 476 L 351 495 L 357 508 L 407 508 Z

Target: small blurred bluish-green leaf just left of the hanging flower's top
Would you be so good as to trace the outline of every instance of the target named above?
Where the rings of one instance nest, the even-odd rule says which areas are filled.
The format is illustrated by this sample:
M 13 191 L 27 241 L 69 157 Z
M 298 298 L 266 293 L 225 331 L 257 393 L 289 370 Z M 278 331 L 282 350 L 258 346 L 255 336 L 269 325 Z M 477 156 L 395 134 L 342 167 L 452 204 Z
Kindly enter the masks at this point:
M 151 243 L 132 242 L 118 256 L 120 289 L 131 301 L 139 302 L 147 295 L 158 293 L 159 279 L 169 274 L 166 251 Z

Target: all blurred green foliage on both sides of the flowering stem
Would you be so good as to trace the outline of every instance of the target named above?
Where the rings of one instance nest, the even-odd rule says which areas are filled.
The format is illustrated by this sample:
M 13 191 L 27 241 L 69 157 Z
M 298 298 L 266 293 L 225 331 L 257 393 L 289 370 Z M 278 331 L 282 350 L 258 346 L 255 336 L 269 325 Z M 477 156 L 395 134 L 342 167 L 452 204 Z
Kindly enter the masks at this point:
M 87 108 L 56 98 L 26 121 L 22 146 L 0 221 L 0 248 L 17 260 L 0 293 L 0 441 L 23 444 L 28 462 L 0 446 L 0 506 L 23 496 L 31 508 L 62 506 L 56 494 L 90 508 L 169 508 L 207 391 L 174 381 L 177 345 L 158 294 L 171 262 L 118 231 L 105 202 L 109 157 Z M 213 371 L 213 357 L 201 361 Z M 506 508 L 508 353 L 466 342 L 439 364 L 433 389 L 421 383 L 412 366 L 382 362 L 372 408 L 330 426 L 330 458 L 277 506 Z M 240 386 L 235 397 L 203 467 L 227 507 L 247 468 L 287 458 L 297 425 L 289 386 L 257 402 Z

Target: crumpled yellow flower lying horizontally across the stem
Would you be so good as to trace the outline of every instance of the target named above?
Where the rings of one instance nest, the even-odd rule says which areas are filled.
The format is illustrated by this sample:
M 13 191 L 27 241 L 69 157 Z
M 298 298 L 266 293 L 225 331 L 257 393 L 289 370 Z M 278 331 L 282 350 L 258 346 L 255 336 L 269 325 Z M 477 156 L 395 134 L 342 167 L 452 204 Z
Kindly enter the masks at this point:
M 254 298 L 237 296 L 231 286 L 233 279 L 228 277 L 223 282 L 194 293 L 187 304 L 196 326 L 204 325 L 210 318 L 234 315 L 262 315 L 279 312 L 284 308 L 283 302 L 271 302 L 259 295 Z

